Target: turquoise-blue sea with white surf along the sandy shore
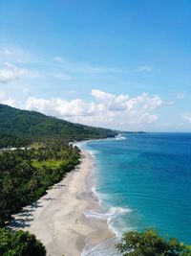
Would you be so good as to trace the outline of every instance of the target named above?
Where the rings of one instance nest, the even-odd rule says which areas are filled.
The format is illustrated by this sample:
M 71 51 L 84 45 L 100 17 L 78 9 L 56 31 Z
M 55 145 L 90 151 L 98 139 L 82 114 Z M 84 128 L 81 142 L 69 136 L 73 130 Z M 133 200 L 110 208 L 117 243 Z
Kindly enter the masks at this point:
M 191 244 L 191 133 L 121 133 L 80 144 L 95 162 L 95 186 L 102 212 L 116 234 L 82 256 L 118 256 L 124 232 L 154 228 L 166 239 Z

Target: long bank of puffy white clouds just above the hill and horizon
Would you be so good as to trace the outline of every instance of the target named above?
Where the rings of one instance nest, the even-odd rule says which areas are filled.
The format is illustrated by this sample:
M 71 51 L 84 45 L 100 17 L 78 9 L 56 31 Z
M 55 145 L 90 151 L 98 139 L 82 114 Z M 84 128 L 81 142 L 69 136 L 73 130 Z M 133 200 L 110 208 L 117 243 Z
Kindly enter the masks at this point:
M 115 95 L 94 89 L 92 96 L 93 102 L 29 97 L 24 103 L 8 99 L 3 104 L 36 110 L 72 122 L 118 129 L 156 122 L 156 110 L 163 104 L 158 95 L 150 96 L 146 93 L 130 98 L 128 95 Z

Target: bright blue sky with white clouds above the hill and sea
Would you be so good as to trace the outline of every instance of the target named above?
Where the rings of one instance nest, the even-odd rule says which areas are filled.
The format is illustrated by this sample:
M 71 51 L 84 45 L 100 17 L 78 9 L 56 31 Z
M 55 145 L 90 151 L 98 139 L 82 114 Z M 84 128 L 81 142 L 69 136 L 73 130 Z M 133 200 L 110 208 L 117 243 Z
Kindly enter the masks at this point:
M 0 104 L 191 130 L 190 0 L 0 0 Z

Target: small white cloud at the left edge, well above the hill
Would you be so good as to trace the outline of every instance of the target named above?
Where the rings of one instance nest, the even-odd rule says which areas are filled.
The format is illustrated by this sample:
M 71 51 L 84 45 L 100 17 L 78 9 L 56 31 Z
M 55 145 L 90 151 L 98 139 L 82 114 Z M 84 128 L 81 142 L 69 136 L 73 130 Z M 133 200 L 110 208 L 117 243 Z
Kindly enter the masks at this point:
M 4 66 L 4 69 L 0 69 L 0 82 L 2 83 L 17 80 L 28 73 L 27 69 L 18 68 L 11 62 L 5 62 Z

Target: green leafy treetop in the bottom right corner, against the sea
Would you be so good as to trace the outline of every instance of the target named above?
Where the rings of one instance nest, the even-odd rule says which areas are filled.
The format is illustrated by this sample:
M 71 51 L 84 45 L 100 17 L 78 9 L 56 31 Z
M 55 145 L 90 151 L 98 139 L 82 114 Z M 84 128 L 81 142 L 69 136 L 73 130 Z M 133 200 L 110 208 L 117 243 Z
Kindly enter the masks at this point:
M 117 249 L 123 256 L 191 256 L 190 246 L 174 238 L 166 241 L 153 229 L 125 233 Z

